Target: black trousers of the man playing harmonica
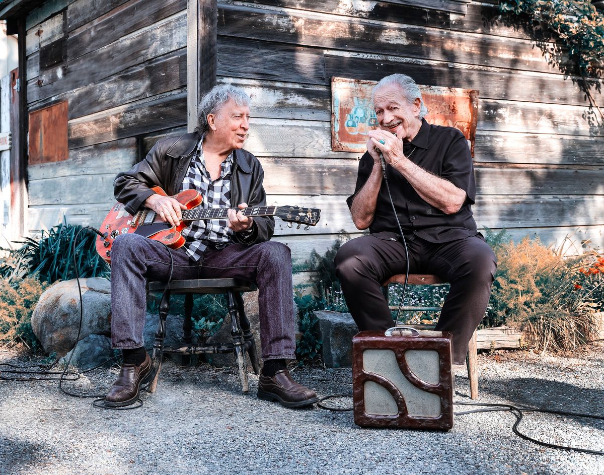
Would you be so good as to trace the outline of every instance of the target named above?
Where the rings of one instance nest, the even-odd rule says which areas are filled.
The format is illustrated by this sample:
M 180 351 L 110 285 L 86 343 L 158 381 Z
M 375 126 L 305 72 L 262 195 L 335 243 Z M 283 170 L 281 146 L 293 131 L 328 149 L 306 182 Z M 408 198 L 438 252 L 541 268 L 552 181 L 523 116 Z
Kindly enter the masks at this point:
M 382 232 L 346 242 L 335 257 L 336 274 L 359 330 L 393 326 L 381 282 L 404 274 L 405 248 L 396 233 Z M 434 244 L 407 240 L 409 271 L 436 274 L 451 283 L 436 329 L 453 335 L 453 362 L 463 364 L 467 343 L 484 317 L 497 268 L 495 254 L 481 236 Z

